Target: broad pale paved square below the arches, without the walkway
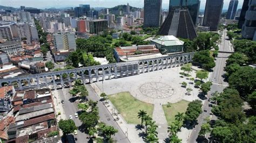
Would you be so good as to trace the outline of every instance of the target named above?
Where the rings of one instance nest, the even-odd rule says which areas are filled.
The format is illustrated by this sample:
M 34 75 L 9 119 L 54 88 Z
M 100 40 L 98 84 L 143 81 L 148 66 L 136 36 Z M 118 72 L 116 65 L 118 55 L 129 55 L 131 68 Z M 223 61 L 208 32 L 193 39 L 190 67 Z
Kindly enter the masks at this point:
M 131 95 L 140 101 L 151 104 L 176 103 L 182 99 L 193 101 L 198 99 L 198 89 L 193 88 L 193 84 L 187 84 L 187 88 L 193 89 L 190 96 L 186 94 L 186 88 L 181 87 L 182 82 L 192 82 L 186 77 L 181 78 L 180 67 L 153 71 L 140 75 L 106 80 L 103 83 L 97 82 L 100 90 L 104 90 L 107 95 L 129 91 Z M 196 77 L 192 72 L 192 77 Z M 188 77 L 191 78 L 191 77 Z M 103 86 L 103 87 L 102 87 Z

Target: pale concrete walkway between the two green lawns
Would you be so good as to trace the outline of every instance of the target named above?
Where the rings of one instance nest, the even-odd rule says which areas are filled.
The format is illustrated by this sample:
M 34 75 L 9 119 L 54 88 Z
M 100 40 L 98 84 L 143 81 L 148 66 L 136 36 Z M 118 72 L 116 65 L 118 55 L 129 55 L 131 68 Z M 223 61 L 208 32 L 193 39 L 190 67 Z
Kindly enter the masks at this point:
M 153 120 L 156 121 L 156 124 L 158 125 L 157 132 L 159 142 L 164 142 L 164 140 L 168 137 L 168 123 L 164 115 L 163 107 L 159 101 L 154 103 Z

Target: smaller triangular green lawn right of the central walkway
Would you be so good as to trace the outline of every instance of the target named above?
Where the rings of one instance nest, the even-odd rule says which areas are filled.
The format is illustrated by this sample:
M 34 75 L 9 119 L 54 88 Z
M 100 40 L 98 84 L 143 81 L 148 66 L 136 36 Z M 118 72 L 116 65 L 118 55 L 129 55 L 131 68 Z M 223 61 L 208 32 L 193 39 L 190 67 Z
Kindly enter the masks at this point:
M 171 123 L 175 120 L 175 115 L 177 115 L 178 112 L 186 112 L 188 103 L 190 102 L 182 100 L 180 102 L 171 104 L 170 108 L 167 108 L 167 105 L 163 105 L 165 118 L 169 125 L 171 125 Z

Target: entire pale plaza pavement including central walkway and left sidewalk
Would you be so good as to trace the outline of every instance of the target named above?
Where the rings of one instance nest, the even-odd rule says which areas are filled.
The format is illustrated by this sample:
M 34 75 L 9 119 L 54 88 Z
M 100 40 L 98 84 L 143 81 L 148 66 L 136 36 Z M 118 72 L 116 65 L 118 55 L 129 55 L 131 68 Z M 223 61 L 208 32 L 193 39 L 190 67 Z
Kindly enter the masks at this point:
M 98 95 L 102 92 L 105 92 L 107 95 L 112 95 L 119 92 L 129 91 L 131 95 L 139 101 L 154 104 L 153 120 L 155 120 L 158 125 L 157 131 L 159 142 L 164 142 L 168 137 L 168 124 L 164 116 L 162 105 L 167 104 L 168 102 L 177 103 L 182 99 L 189 102 L 199 99 L 199 89 L 194 88 L 194 84 L 189 84 L 189 82 L 193 82 L 190 81 L 189 78 L 193 77 L 196 79 L 196 71 L 193 70 L 190 73 L 191 76 L 188 78 L 181 78 L 179 74 L 180 72 L 183 72 L 180 70 L 180 67 L 175 67 L 140 75 L 106 80 L 104 82 L 96 82 L 92 83 L 91 86 L 95 89 Z M 186 88 L 181 87 L 182 82 L 187 83 L 186 88 L 190 87 L 193 89 L 190 96 L 185 95 Z M 110 112 L 118 112 L 110 101 L 106 106 Z M 127 124 L 122 115 L 117 116 L 119 118 L 117 121 L 118 125 L 122 128 L 123 132 L 128 136 L 128 139 L 131 142 L 144 142 L 139 135 L 144 129 L 138 130 L 135 127 L 136 125 Z M 181 132 L 178 133 L 178 137 L 183 139 L 182 142 L 187 142 L 191 131 L 192 130 L 187 130 L 182 127 Z

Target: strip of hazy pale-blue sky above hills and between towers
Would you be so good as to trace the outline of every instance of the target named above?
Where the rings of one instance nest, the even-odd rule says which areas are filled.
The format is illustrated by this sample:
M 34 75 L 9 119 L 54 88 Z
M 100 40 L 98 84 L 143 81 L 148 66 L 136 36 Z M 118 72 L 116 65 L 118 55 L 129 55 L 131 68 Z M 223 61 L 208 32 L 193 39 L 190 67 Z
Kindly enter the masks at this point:
M 0 5 L 12 6 L 19 8 L 19 6 L 24 5 L 33 8 L 64 8 L 64 7 L 75 7 L 79 4 L 90 4 L 91 7 L 104 7 L 112 8 L 113 6 L 120 4 L 129 3 L 131 6 L 138 8 L 143 7 L 144 0 L 0 0 Z M 169 8 L 170 0 L 163 0 L 163 9 Z M 210 0 L 214 1 L 214 0 Z M 228 4 L 230 0 L 224 0 L 223 9 L 228 9 Z M 242 7 L 244 0 L 239 0 L 238 9 Z M 200 9 L 205 9 L 206 0 L 201 0 Z

